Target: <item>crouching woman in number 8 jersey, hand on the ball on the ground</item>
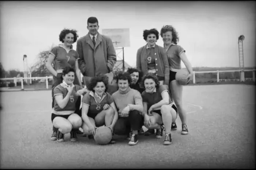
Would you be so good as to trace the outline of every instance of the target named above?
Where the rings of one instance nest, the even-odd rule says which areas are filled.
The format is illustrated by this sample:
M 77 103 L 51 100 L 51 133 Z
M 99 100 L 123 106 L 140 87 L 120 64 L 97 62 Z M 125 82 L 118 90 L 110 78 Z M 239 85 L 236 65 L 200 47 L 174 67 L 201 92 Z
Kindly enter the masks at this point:
M 112 96 L 107 92 L 108 77 L 99 76 L 91 79 L 87 87 L 90 92 L 82 99 L 82 119 L 84 134 L 93 139 L 95 129 L 106 125 L 112 132 L 118 119 L 118 112 Z M 115 143 L 112 139 L 110 143 Z

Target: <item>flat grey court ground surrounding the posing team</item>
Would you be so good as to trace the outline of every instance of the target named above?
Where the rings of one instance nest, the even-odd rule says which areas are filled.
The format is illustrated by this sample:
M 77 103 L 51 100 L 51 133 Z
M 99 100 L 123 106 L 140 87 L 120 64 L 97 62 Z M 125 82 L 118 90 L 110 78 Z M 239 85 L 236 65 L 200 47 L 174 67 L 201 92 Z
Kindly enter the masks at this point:
M 171 145 L 151 135 L 98 146 L 50 140 L 50 90 L 1 92 L 1 168 L 255 168 L 255 86 L 184 86 L 183 101 L 189 134 L 178 117 Z

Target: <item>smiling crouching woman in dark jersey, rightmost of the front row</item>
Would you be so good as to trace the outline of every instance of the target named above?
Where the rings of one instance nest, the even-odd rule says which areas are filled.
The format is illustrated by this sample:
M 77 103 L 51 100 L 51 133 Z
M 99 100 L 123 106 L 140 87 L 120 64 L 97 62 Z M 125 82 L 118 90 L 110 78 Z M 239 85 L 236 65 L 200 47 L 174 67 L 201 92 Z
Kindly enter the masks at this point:
M 144 126 L 157 129 L 156 138 L 162 138 L 163 125 L 165 139 L 163 144 L 171 144 L 171 124 L 177 119 L 177 108 L 172 103 L 167 85 L 160 85 L 154 73 L 147 73 L 142 78 L 142 92 Z

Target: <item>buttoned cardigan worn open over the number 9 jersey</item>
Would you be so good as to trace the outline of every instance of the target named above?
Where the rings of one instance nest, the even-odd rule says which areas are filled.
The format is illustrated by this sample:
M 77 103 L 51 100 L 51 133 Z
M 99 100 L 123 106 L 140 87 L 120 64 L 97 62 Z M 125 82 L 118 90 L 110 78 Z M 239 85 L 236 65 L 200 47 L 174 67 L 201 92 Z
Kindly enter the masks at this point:
M 137 51 L 136 68 L 142 71 L 142 74 L 148 73 L 147 63 L 147 45 L 142 46 Z M 161 46 L 155 45 L 155 69 L 156 75 L 165 77 L 164 84 L 169 86 L 169 62 L 165 49 Z

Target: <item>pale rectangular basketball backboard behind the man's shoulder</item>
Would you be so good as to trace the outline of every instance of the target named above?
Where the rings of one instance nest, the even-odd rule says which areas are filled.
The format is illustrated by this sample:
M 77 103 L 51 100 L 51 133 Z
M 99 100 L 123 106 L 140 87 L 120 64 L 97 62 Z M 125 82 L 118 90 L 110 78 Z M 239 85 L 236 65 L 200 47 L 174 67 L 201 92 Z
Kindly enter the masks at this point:
M 130 46 L 129 28 L 102 29 L 102 35 L 109 36 L 115 48 Z

